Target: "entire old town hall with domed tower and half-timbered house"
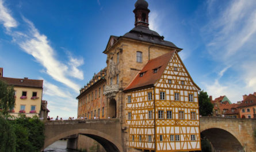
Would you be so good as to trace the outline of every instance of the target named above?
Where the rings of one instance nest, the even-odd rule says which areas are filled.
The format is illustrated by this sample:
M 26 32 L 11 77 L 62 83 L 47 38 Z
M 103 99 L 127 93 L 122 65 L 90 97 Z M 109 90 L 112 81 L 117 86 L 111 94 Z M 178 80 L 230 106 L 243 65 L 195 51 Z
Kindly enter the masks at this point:
M 148 28 L 148 3 L 135 3 L 135 28 L 110 36 L 107 67 L 80 90 L 78 118 L 119 118 L 130 150 L 201 150 L 198 91 L 182 49 Z

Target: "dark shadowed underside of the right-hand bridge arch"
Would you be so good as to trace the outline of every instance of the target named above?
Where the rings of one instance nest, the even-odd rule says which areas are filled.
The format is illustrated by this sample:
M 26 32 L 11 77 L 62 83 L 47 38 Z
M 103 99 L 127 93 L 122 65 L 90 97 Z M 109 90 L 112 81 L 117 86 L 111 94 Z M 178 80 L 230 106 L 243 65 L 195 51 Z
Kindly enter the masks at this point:
M 201 132 L 217 152 L 243 151 L 243 146 L 230 132 L 221 128 L 208 128 Z

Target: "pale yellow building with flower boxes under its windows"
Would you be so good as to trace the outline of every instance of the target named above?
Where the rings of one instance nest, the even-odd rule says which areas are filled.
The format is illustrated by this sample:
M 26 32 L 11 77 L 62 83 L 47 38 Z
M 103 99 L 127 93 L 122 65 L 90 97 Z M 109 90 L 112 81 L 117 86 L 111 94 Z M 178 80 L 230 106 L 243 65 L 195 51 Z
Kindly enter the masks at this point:
M 13 85 L 15 91 L 16 106 L 10 110 L 10 114 L 18 116 L 18 114 L 24 113 L 30 117 L 33 115 L 40 116 L 43 80 L 32 80 L 27 77 L 24 79 L 3 77 L 3 68 L 0 71 L 0 79 L 8 85 Z

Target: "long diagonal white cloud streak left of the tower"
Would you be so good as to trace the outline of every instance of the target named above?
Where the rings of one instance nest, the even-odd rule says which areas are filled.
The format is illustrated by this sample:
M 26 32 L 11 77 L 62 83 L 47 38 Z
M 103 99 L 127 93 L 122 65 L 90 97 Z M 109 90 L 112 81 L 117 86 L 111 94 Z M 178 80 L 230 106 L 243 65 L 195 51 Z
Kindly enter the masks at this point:
M 79 85 L 73 83 L 66 77 L 68 66 L 60 63 L 60 61 L 55 58 L 54 49 L 49 45 L 47 37 L 44 34 L 40 34 L 32 22 L 26 18 L 24 18 L 24 21 L 30 28 L 28 33 L 29 38 L 20 40 L 18 45 L 20 45 L 26 53 L 35 57 L 36 61 L 46 68 L 48 75 L 78 92 Z

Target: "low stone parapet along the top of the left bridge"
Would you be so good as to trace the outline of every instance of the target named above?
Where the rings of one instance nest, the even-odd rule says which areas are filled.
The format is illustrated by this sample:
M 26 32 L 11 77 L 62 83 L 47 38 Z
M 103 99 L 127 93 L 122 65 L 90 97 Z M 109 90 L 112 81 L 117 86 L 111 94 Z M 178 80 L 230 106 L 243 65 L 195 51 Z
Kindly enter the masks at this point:
M 78 123 L 114 123 L 120 122 L 119 118 L 111 119 L 77 119 L 77 120 L 45 120 L 43 121 L 45 125 L 53 124 L 78 124 Z

